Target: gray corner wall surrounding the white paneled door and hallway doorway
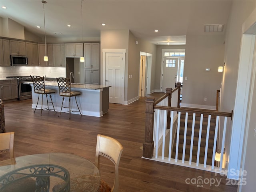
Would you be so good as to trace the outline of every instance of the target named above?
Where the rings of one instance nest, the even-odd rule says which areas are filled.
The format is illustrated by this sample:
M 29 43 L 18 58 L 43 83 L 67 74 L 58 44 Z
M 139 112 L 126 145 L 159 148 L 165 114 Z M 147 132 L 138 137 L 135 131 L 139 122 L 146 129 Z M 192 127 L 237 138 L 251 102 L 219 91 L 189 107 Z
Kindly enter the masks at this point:
M 103 82 L 103 54 L 102 49 L 126 49 L 124 101 L 137 98 L 139 93 L 140 51 L 153 54 L 152 56 L 152 88 L 154 88 L 154 71 L 156 63 L 156 45 L 136 38 L 129 30 L 102 30 L 100 35 L 100 79 Z M 138 41 L 139 44 L 135 44 Z M 132 74 L 132 78 L 128 78 Z

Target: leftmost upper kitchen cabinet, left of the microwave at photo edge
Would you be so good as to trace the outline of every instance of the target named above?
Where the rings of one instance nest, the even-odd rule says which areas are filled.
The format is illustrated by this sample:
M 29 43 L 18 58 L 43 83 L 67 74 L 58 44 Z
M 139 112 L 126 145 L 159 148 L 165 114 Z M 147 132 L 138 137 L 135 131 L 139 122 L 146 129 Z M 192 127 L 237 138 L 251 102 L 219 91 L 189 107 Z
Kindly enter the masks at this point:
M 10 41 L 0 39 L 0 66 L 11 66 Z

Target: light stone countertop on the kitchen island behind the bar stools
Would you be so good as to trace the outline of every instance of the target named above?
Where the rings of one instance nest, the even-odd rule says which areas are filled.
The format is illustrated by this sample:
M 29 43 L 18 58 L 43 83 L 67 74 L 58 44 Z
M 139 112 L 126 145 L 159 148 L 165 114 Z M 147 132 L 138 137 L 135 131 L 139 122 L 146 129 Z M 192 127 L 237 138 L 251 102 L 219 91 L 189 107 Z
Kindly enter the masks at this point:
M 32 82 L 26 82 L 24 84 L 33 84 Z M 54 86 L 58 87 L 58 83 L 56 81 L 45 81 L 45 86 Z M 90 90 L 97 90 L 103 89 L 111 86 L 105 85 L 95 85 L 95 84 L 82 84 L 82 83 L 71 83 L 71 88 L 78 88 L 78 89 L 90 89 Z

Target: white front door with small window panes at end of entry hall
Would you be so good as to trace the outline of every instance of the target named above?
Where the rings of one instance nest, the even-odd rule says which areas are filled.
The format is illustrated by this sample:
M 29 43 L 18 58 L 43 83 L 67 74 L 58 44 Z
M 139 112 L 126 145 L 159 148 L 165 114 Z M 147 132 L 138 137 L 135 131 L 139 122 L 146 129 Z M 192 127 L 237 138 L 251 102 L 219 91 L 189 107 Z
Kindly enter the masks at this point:
M 162 69 L 162 92 L 166 88 L 175 88 L 178 72 L 178 58 L 164 57 Z

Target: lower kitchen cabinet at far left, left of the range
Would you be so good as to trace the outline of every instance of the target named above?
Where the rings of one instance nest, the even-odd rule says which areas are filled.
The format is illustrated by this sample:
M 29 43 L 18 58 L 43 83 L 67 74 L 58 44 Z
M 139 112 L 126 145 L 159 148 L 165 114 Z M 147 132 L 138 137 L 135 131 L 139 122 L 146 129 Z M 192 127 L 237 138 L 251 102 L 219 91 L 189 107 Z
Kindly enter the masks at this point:
M 1 80 L 0 84 L 0 96 L 3 101 L 18 98 L 17 80 Z

